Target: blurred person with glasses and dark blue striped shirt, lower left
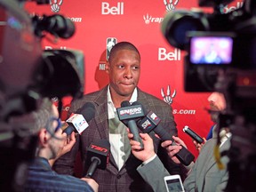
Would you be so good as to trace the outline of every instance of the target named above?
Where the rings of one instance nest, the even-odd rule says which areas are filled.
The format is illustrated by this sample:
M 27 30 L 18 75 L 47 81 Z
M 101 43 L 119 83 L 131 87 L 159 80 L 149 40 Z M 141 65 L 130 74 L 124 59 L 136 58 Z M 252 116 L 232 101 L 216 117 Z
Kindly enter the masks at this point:
M 73 147 L 76 138 L 73 132 L 67 142 L 67 134 L 60 129 L 58 109 L 51 100 L 44 99 L 36 111 L 13 118 L 12 124 L 30 127 L 31 133 L 38 135 L 36 157 L 28 166 L 25 191 L 98 191 L 99 185 L 95 180 L 80 180 L 52 171 L 51 165 Z

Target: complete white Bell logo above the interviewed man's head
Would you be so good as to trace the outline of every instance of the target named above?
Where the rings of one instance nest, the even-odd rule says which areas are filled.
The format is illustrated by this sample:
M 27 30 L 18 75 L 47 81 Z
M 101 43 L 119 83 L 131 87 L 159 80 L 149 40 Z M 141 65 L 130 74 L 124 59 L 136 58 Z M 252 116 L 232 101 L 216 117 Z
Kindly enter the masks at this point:
M 122 15 L 124 14 L 124 2 L 120 3 L 118 2 L 116 6 L 110 7 L 110 4 L 108 2 L 102 2 L 101 3 L 101 14 L 103 15 Z

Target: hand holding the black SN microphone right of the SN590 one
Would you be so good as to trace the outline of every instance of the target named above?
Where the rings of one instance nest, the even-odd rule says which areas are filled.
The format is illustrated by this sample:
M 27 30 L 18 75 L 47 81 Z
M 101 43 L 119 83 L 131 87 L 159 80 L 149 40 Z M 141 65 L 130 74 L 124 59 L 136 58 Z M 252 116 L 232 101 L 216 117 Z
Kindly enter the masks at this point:
M 187 148 L 183 140 L 180 140 L 179 137 L 172 136 L 173 140 L 176 142 L 176 145 L 172 146 L 172 140 L 165 140 L 162 142 L 161 146 L 167 150 L 168 156 L 172 158 L 172 161 L 176 164 L 180 164 L 180 160 L 175 156 L 180 149 L 183 147 Z

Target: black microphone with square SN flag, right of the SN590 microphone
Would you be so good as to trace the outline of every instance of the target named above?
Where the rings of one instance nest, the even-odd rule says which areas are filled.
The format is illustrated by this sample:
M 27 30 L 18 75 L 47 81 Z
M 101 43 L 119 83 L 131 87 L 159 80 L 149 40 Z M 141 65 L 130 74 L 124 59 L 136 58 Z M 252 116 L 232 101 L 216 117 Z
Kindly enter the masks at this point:
M 156 114 L 152 111 L 149 111 L 147 116 L 142 118 L 138 122 L 138 126 L 142 132 L 151 132 L 154 130 L 156 134 L 160 137 L 161 140 L 172 140 L 172 146 L 177 145 L 175 141 L 172 139 L 169 132 L 167 132 L 162 124 L 160 124 L 161 119 L 156 116 Z M 180 145 L 181 149 L 180 151 L 175 155 L 179 160 L 181 164 L 184 164 L 188 166 L 194 159 L 195 156 L 188 151 L 187 148 L 184 148 L 184 146 Z

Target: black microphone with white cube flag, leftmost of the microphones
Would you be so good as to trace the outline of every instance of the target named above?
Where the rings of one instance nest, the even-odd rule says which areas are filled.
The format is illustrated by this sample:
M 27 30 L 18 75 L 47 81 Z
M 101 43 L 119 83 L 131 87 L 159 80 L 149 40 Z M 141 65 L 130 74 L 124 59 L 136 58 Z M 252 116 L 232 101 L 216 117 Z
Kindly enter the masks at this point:
M 71 132 L 78 132 L 81 134 L 89 126 L 89 122 L 95 115 L 95 107 L 91 102 L 84 104 L 82 108 L 79 108 L 76 111 L 76 114 L 71 115 L 68 120 L 68 127 L 63 131 L 67 135 L 70 135 Z M 85 116 L 85 119 L 84 119 Z

